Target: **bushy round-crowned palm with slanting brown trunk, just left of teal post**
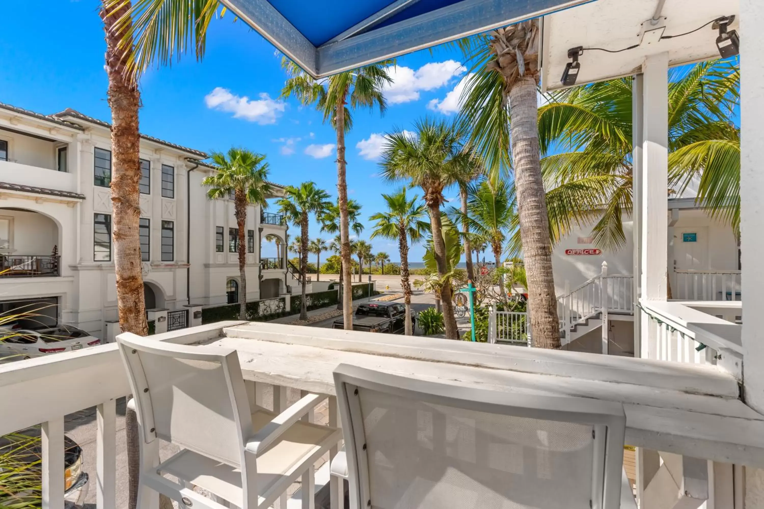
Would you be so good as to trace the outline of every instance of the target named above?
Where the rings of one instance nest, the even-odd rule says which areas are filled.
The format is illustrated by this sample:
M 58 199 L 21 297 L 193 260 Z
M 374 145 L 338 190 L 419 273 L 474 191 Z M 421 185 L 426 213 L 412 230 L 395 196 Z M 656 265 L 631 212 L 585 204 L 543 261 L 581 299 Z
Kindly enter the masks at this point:
M 416 122 L 415 128 L 413 136 L 400 130 L 387 135 L 380 166 L 388 182 L 403 180 L 422 188 L 429 209 L 435 262 L 442 278 L 448 272 L 441 222 L 443 190 L 457 182 L 469 155 L 461 151 L 463 134 L 456 124 L 424 118 Z M 458 339 L 450 282 L 444 283 L 441 295 L 445 337 Z

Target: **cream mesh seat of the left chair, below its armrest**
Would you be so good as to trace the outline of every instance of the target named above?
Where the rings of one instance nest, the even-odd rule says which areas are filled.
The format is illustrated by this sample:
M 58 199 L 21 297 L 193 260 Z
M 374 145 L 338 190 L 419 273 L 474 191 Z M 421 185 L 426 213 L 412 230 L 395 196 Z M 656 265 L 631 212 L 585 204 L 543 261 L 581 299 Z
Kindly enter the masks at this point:
M 261 430 L 276 416 L 274 412 L 258 410 L 252 414 L 254 430 Z M 293 467 L 306 461 L 315 462 L 325 452 L 325 447 L 337 441 L 338 430 L 320 424 L 298 422 L 286 430 L 261 456 L 257 456 L 257 482 L 260 492 L 259 505 L 270 505 L 299 477 Z M 315 458 L 312 458 L 315 456 Z M 206 491 L 243 505 L 241 469 L 215 459 L 183 450 L 157 467 L 163 474 L 170 474 L 182 482 L 199 486 Z

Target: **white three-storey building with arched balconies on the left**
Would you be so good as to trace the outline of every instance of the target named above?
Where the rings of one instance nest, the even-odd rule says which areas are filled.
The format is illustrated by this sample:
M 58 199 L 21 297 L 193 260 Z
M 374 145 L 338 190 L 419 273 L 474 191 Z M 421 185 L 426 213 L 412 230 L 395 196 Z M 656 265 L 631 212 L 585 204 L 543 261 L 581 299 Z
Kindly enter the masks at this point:
M 214 171 L 206 157 L 141 135 L 146 308 L 166 308 L 171 329 L 189 324 L 189 304 L 238 301 L 234 205 L 206 198 L 201 182 Z M 0 103 L 0 310 L 27 305 L 105 337 L 105 323 L 118 320 L 110 178 L 109 124 L 72 109 L 44 115 Z M 267 234 L 285 244 L 283 217 L 251 205 L 248 301 L 295 284 L 283 250 L 261 259 Z

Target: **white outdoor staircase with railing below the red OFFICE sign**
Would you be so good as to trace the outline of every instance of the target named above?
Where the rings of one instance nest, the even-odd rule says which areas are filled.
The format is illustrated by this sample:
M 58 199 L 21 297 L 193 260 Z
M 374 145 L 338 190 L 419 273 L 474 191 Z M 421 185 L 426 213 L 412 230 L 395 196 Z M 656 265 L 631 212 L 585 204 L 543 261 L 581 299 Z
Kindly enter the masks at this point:
M 608 314 L 633 314 L 633 276 L 609 275 L 607 263 L 602 272 L 578 287 L 568 290 L 557 298 L 560 317 L 560 343 L 571 341 L 601 329 Z M 607 353 L 607 335 L 603 334 L 603 352 Z

